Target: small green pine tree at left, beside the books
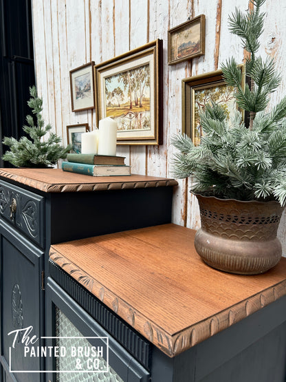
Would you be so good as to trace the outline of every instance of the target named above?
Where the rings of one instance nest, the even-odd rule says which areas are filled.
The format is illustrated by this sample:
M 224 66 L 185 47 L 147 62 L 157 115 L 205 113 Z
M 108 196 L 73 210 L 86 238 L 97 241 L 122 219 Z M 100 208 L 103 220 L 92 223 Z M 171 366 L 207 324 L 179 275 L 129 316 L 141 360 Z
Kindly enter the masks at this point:
M 41 139 L 52 129 L 52 126 L 50 124 L 45 126 L 41 114 L 43 99 L 37 96 L 36 87 L 30 87 L 30 96 L 28 105 L 36 116 L 36 125 L 34 125 L 34 118 L 27 116 L 28 125 L 23 126 L 23 130 L 31 140 L 25 136 L 19 140 L 5 137 L 3 144 L 9 146 L 10 151 L 6 151 L 2 159 L 16 167 L 50 167 L 55 165 L 58 159 L 64 159 L 71 147 L 61 146 L 61 138 L 52 132 L 47 140 Z

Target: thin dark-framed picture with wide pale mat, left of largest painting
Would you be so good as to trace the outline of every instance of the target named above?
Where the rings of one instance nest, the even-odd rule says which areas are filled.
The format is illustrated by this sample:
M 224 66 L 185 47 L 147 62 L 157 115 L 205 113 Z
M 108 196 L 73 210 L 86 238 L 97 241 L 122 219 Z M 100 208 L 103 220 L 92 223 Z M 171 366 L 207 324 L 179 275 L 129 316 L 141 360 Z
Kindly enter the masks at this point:
M 69 72 L 72 111 L 94 108 L 94 61 Z

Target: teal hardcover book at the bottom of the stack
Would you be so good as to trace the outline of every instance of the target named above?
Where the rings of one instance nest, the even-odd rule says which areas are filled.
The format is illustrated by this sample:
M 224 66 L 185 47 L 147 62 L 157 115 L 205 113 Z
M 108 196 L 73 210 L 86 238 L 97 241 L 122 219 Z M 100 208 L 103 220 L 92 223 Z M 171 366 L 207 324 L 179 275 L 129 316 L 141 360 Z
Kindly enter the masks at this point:
M 124 176 L 131 175 L 131 166 L 87 165 L 85 163 L 63 162 L 63 171 L 82 173 L 89 176 Z

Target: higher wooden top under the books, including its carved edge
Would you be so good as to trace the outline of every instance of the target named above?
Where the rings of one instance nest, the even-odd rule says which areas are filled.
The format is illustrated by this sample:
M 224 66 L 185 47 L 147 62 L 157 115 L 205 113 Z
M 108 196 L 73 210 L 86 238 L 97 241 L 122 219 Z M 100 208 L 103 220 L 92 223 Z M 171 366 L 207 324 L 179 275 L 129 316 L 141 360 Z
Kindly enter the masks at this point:
M 1 169 L 0 177 L 44 192 L 104 191 L 175 186 L 174 179 L 155 176 L 87 176 L 61 169 Z

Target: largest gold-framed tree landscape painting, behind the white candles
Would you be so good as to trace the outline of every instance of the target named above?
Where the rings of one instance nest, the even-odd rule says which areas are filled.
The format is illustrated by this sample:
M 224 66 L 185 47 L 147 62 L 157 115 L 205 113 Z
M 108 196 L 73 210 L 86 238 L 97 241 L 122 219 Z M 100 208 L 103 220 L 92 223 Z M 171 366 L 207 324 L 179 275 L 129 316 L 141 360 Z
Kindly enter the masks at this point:
M 162 40 L 94 67 L 96 117 L 118 124 L 118 145 L 162 144 Z

